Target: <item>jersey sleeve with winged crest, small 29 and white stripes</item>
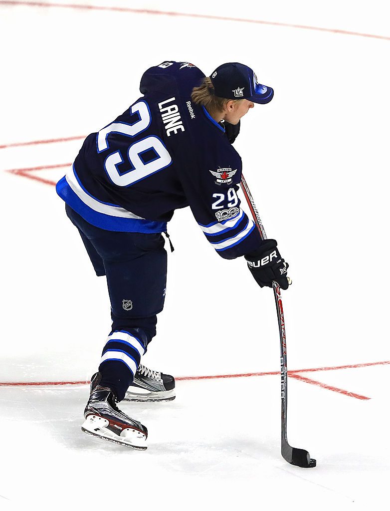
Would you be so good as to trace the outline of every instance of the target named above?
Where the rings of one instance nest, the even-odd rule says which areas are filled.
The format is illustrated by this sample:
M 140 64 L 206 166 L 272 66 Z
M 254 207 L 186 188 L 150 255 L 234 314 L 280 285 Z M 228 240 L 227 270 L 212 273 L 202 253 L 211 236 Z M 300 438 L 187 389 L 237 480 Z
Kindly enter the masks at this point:
M 227 140 L 226 144 L 228 151 L 219 151 L 214 158 L 198 157 L 197 168 L 182 169 L 181 183 L 207 241 L 224 259 L 235 259 L 259 248 L 261 238 L 237 195 L 241 158 Z

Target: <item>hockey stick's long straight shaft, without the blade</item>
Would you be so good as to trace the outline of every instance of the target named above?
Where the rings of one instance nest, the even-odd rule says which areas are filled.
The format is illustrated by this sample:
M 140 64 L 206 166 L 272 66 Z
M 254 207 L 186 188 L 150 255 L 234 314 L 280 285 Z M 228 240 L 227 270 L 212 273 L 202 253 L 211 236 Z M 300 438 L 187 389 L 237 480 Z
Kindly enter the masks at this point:
M 249 190 L 248 184 L 241 175 L 241 188 L 242 192 L 245 195 L 245 198 L 248 202 L 250 211 L 253 216 L 253 221 L 259 231 L 260 237 L 262 240 L 266 240 L 266 234 L 264 230 L 263 223 L 260 219 L 259 212 L 257 211 L 257 207 L 255 201 L 253 200 L 252 194 Z M 274 288 L 274 297 L 275 297 L 275 305 L 276 311 L 278 315 L 278 324 L 279 324 L 279 338 L 280 338 L 280 377 L 281 377 L 281 433 L 282 433 L 282 450 L 283 447 L 287 444 L 287 346 L 286 346 L 286 330 L 284 327 L 284 315 L 283 315 L 283 305 L 282 305 L 282 297 L 280 292 L 280 287 L 277 282 L 273 282 Z

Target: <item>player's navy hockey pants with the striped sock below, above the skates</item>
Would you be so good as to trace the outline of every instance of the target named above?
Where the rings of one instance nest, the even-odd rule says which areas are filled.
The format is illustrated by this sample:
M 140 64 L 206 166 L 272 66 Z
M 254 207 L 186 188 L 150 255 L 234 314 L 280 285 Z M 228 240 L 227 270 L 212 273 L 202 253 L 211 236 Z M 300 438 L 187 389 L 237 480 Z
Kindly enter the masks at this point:
M 100 229 L 66 204 L 96 275 L 106 275 L 112 329 L 103 349 L 101 385 L 120 401 L 134 378 L 140 357 L 156 335 L 156 314 L 165 299 L 167 255 L 161 233 L 123 233 Z

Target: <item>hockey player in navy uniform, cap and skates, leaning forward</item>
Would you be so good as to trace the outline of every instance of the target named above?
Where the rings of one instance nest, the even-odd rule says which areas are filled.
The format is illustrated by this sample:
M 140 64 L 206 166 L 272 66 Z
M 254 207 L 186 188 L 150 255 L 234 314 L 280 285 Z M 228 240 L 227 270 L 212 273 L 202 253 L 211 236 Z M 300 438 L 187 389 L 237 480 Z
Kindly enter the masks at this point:
M 82 430 L 146 449 L 147 428 L 116 404 L 175 397 L 172 376 L 140 364 L 164 305 L 162 233 L 174 211 L 189 205 L 216 252 L 244 256 L 260 287 L 277 281 L 287 289 L 288 265 L 240 208 L 241 158 L 231 145 L 240 119 L 254 103 L 269 103 L 273 89 L 237 62 L 205 77 L 189 62 L 165 61 L 143 74 L 140 91 L 128 110 L 87 136 L 57 193 L 96 274 L 106 275 L 111 301 L 112 328 Z

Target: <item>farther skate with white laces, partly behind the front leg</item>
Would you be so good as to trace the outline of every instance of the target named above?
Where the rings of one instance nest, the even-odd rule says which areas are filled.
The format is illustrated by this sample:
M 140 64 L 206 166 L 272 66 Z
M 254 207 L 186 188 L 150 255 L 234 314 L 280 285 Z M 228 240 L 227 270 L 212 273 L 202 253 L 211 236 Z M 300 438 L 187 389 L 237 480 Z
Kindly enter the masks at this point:
M 124 401 L 172 401 L 175 397 L 173 376 L 164 375 L 139 364 Z

